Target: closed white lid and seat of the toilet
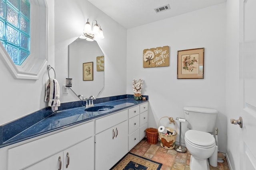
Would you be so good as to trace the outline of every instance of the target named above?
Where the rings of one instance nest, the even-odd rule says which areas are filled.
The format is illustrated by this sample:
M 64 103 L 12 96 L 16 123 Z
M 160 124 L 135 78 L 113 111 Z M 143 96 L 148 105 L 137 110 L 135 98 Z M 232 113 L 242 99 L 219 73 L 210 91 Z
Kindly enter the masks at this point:
M 207 132 L 188 130 L 185 133 L 185 138 L 188 143 L 195 147 L 211 148 L 215 146 L 214 137 Z

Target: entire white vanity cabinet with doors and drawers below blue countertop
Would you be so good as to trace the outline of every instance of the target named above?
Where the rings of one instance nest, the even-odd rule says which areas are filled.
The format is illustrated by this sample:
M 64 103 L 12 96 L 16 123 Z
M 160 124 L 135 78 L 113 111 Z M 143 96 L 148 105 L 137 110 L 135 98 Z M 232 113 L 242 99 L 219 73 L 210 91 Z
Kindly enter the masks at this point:
M 0 169 L 110 169 L 145 137 L 147 127 L 148 102 L 144 102 L 3 147 Z

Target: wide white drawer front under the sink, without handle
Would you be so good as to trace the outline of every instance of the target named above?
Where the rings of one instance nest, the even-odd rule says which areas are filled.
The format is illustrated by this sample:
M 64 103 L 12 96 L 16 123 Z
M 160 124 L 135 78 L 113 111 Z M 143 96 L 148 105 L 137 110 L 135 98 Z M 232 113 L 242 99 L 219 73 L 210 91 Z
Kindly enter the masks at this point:
M 104 131 L 112 126 L 115 126 L 127 120 L 128 110 L 120 111 L 118 113 L 97 119 L 95 121 L 95 133 Z

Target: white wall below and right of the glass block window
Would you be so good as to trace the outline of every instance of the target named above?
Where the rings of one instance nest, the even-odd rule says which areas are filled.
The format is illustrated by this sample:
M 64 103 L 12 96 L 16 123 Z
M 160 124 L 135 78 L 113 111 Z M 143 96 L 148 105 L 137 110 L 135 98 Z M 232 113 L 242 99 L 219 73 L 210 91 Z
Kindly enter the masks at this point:
M 54 1 L 46 0 L 48 6 L 48 62 L 54 66 Z M 0 125 L 23 117 L 38 109 L 46 107 L 44 102 L 45 82 L 48 73 L 42 68 L 39 80 L 15 79 L 0 56 Z

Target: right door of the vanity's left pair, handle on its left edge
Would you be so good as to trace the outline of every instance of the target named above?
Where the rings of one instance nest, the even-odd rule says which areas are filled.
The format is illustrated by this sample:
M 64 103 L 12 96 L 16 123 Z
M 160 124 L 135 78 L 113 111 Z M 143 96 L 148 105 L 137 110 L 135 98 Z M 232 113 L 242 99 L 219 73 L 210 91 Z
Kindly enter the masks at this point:
M 64 150 L 63 170 L 94 170 L 94 138 Z

